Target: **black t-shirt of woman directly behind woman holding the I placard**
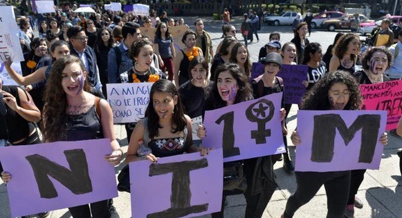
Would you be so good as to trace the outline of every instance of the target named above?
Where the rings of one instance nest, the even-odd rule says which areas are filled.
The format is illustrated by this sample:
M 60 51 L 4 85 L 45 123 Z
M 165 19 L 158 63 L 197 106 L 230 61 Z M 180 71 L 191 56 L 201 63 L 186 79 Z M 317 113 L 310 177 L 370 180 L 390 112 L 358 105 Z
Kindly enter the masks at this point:
M 213 82 L 210 82 L 207 87 L 196 87 L 191 81 L 187 81 L 179 88 L 180 99 L 185 108 L 185 114 L 190 118 L 195 118 L 203 115 L 205 99 L 211 90 Z

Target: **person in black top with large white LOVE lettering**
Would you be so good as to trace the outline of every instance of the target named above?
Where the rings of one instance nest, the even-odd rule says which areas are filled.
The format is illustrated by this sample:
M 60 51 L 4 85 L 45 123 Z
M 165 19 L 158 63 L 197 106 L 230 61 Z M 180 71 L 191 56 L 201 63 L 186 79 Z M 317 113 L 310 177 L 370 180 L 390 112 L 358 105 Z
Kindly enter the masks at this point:
M 308 86 L 306 88 L 310 90 L 327 72 L 323 61 L 323 50 L 320 44 L 310 43 L 304 48 L 303 64 L 308 66 Z

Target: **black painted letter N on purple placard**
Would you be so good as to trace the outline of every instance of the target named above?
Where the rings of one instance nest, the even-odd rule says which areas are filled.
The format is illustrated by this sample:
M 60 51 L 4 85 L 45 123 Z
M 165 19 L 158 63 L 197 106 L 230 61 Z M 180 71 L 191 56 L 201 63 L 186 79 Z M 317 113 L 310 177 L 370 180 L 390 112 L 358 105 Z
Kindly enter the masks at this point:
M 92 192 L 92 183 L 84 151 L 82 149 L 67 150 L 64 151 L 64 155 L 70 169 L 38 154 L 25 157 L 34 171 L 41 198 L 58 196 L 48 176 L 58 180 L 76 195 Z

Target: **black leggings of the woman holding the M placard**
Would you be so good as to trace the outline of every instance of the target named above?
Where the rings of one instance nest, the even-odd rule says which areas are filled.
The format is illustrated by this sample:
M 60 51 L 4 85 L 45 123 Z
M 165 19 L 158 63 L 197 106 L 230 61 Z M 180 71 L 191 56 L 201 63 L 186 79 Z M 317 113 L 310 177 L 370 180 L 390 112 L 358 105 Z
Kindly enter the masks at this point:
M 295 172 L 297 189 L 286 203 L 285 218 L 292 217 L 299 207 L 308 203 L 321 186 L 327 194 L 327 218 L 341 218 L 349 196 L 351 171 Z

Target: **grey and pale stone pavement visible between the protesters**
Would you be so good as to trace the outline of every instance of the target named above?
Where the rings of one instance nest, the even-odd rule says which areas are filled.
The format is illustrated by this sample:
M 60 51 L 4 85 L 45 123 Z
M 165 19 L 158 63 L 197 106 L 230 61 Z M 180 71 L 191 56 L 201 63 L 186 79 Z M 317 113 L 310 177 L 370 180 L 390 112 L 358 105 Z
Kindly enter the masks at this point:
M 195 17 L 186 17 L 186 23 L 193 28 Z M 240 17 L 234 19 L 236 28 L 240 29 Z M 221 33 L 221 21 L 205 19 L 206 30 L 212 35 L 214 47 L 219 44 Z M 278 31 L 281 33 L 281 43 L 290 42 L 293 39 L 291 26 L 268 26 L 262 24 L 262 30 L 259 32 L 260 42 L 248 46 L 251 54 L 251 61 L 255 62 L 258 58 L 259 50 L 268 43 L 269 33 Z M 323 52 L 332 44 L 337 32 L 319 31 L 314 29 L 309 37 L 310 42 L 319 42 L 323 47 Z M 238 39 L 241 39 L 238 34 Z M 254 39 L 254 42 L 255 39 Z M 292 132 L 297 123 L 297 105 L 293 105 L 291 113 L 287 119 L 288 130 Z M 115 125 L 114 132 L 117 138 L 121 139 L 122 149 L 127 151 L 127 138 L 124 126 Z M 360 186 L 357 196 L 364 201 L 362 209 L 355 209 L 355 217 L 402 217 L 402 177 L 399 173 L 399 158 L 396 155 L 398 148 L 402 147 L 402 140 L 389 136 L 390 142 L 384 149 L 380 170 L 367 170 L 363 184 Z M 294 146 L 288 136 L 290 144 L 291 157 L 295 157 Z M 294 160 L 293 160 L 294 162 Z M 122 162 L 116 167 L 116 176 L 124 167 Z M 282 168 L 282 162 L 275 164 L 276 181 L 278 189 L 275 191 L 269 202 L 263 217 L 280 217 L 286 205 L 286 200 L 296 190 L 296 179 L 294 173 L 286 173 Z M 230 196 L 225 207 L 225 217 L 241 218 L 244 217 L 246 202 L 243 195 Z M 119 197 L 114 199 L 114 206 L 122 218 L 131 217 L 130 196 L 128 193 L 119 192 Z M 306 205 L 302 206 L 294 217 L 325 217 L 327 213 L 327 203 L 325 189 L 322 187 L 317 195 Z M 0 218 L 10 217 L 8 196 L 5 184 L 0 180 Z M 71 217 L 67 209 L 55 210 L 49 216 L 51 218 L 69 218 Z M 203 218 L 210 215 L 200 216 Z M 96 217 L 95 217 L 96 218 Z

